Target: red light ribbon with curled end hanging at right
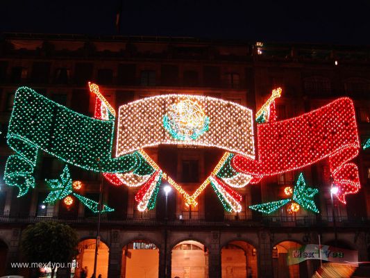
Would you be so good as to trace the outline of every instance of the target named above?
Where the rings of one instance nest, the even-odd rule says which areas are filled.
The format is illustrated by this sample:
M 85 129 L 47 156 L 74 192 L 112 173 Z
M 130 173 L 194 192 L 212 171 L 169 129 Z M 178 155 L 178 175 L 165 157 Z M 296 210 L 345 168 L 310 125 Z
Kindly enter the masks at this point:
M 253 177 L 290 172 L 328 158 L 337 198 L 360 189 L 358 167 L 348 163 L 358 155 L 360 141 L 353 101 L 347 97 L 288 120 L 258 124 L 258 160 L 235 155 L 233 167 Z

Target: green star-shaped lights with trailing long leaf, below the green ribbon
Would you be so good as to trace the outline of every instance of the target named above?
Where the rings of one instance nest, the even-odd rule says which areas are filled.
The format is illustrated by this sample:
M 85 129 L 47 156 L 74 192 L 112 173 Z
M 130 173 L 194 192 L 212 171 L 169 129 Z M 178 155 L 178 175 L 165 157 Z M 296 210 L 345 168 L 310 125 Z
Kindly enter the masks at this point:
M 77 199 L 80 200 L 87 208 L 90 208 L 91 211 L 94 213 L 99 212 L 99 203 L 95 202 L 92 199 L 84 197 L 83 195 L 79 195 L 73 191 L 72 188 L 72 178 L 69 174 L 68 166 L 66 165 L 63 169 L 62 174 L 60 175 L 60 179 L 47 179 L 47 186 L 51 188 L 51 192 L 47 196 L 47 199 L 44 200 L 44 203 L 51 203 L 54 204 L 56 201 L 65 199 L 66 197 L 70 197 L 70 195 L 74 195 Z M 73 202 L 70 202 L 72 204 Z M 110 211 L 115 211 L 114 208 L 110 208 L 106 204 L 103 204 L 103 208 L 101 213 L 106 213 Z

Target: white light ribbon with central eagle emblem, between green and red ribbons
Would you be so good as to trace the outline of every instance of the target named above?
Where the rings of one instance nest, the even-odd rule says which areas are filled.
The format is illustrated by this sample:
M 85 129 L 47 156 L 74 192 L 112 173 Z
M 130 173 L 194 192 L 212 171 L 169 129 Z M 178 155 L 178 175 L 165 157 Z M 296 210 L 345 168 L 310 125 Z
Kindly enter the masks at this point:
M 251 109 L 213 97 L 146 97 L 119 107 L 116 155 L 160 144 L 184 144 L 254 158 L 252 118 Z

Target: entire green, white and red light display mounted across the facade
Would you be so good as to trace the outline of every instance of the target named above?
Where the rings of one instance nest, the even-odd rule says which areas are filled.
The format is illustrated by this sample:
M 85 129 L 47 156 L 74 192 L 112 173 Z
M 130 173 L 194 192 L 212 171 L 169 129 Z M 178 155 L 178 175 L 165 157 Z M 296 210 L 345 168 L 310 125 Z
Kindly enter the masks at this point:
M 235 188 L 325 158 L 329 159 L 341 202 L 345 202 L 346 194 L 356 193 L 360 188 L 358 168 L 348 163 L 360 149 L 350 99 L 337 99 L 316 111 L 277 121 L 275 100 L 280 97 L 281 89 L 274 90 L 256 113 L 258 160 L 255 160 L 249 108 L 212 97 L 150 97 L 119 108 L 117 157 L 112 158 L 115 110 L 98 85 L 89 83 L 89 86 L 96 96 L 94 119 L 60 106 L 29 88 L 17 90 L 8 131 L 8 145 L 16 154 L 8 158 L 4 179 L 8 185 L 19 187 L 19 195 L 35 186 L 33 172 L 39 151 L 85 170 L 103 172 L 116 186 L 140 187 L 135 195 L 140 211 L 155 207 L 161 181 L 165 179 L 188 205 L 196 206 L 196 198 L 210 185 L 226 211 L 238 212 L 242 210 L 242 196 Z M 190 195 L 142 149 L 159 144 L 219 147 L 226 152 L 210 177 Z M 76 193 L 82 184 L 72 183 L 67 168 L 59 180 L 47 184 L 51 193 L 45 202 L 63 200 L 66 206 L 71 206 L 76 198 L 92 211 L 99 211 L 95 201 Z M 292 197 L 251 209 L 268 213 L 291 202 L 290 213 L 300 207 L 318 212 L 313 201 L 316 193 L 305 186 L 301 175 L 294 190 L 285 188 L 285 194 Z M 108 212 L 112 208 L 104 206 L 103 210 Z

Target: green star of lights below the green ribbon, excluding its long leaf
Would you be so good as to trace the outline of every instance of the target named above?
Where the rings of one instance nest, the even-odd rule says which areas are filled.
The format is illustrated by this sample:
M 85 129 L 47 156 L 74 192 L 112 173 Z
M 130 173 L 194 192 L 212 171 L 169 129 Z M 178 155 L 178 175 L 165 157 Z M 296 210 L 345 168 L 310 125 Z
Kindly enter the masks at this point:
M 72 179 L 69 174 L 68 166 L 63 169 L 60 179 L 47 179 L 47 186 L 51 188 L 51 192 L 44 200 L 44 203 L 55 203 L 60 199 L 64 199 L 72 193 Z

